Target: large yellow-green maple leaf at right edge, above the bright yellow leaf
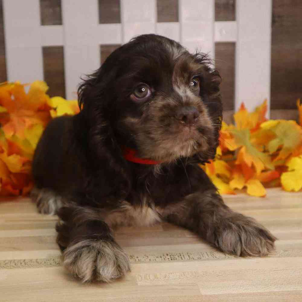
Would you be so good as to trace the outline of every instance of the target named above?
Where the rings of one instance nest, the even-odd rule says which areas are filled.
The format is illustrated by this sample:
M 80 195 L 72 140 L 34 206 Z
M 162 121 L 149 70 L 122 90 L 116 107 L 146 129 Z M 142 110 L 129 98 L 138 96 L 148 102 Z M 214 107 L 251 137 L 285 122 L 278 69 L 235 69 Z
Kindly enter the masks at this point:
M 275 134 L 267 145 L 270 154 L 282 147 L 274 161 L 286 159 L 302 143 L 302 128 L 294 120 L 268 120 L 261 128 Z

